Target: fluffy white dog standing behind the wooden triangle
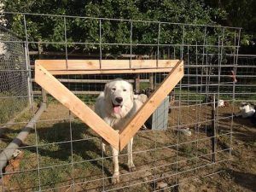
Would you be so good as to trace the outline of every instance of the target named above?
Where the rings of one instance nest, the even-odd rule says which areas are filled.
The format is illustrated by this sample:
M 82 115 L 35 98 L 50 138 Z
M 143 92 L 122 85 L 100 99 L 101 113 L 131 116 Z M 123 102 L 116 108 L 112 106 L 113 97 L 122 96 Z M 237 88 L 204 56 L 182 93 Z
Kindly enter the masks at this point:
M 134 96 L 132 85 L 125 80 L 115 79 L 105 84 L 104 92 L 96 99 L 96 113 L 116 131 L 125 126 L 127 121 L 143 106 L 144 96 Z M 136 171 L 132 160 L 133 138 L 128 143 L 128 167 L 131 172 Z M 119 151 L 112 148 L 113 177 L 112 183 L 119 183 Z M 102 143 L 105 151 L 105 144 Z

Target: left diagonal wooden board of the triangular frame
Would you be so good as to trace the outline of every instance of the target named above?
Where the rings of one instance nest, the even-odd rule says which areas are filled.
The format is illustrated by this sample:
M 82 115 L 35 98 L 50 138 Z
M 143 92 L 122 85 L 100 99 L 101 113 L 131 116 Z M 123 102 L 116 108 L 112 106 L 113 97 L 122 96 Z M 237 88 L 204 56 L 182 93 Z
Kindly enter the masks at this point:
M 119 133 L 114 131 L 102 118 L 68 90 L 61 82 L 51 75 L 44 67 L 36 65 L 35 81 L 44 90 L 72 111 L 79 119 L 90 126 L 114 148 L 119 149 Z

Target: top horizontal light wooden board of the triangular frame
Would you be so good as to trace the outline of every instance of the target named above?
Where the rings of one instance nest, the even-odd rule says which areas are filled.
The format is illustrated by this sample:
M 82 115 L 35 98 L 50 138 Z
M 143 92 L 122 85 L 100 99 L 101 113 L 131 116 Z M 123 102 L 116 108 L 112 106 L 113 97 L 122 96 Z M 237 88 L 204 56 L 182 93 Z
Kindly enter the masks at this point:
M 49 73 L 107 74 L 170 72 L 178 60 L 37 60 Z

